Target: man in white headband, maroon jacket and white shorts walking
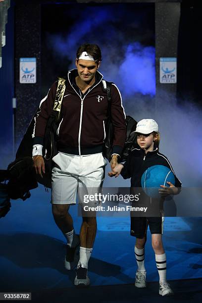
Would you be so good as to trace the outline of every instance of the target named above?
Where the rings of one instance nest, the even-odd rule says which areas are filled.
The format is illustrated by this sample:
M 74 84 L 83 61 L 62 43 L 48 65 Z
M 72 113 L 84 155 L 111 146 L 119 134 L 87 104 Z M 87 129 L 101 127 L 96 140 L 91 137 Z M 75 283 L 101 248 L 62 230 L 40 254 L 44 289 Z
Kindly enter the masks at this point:
M 77 265 L 75 285 L 87 286 L 88 261 L 96 237 L 96 215 L 83 213 L 80 236 L 75 235 L 69 206 L 76 203 L 77 191 L 97 191 L 104 180 L 107 164 L 102 155 L 107 119 L 107 93 L 103 89 L 103 76 L 98 71 L 101 50 L 97 45 L 84 44 L 76 53 L 76 69 L 68 72 L 62 100 L 61 118 L 57 129 L 58 154 L 52 160 L 51 203 L 55 223 L 67 240 L 65 267 L 70 270 Z M 33 130 L 33 160 L 36 172 L 45 173 L 42 156 L 43 138 L 47 120 L 54 104 L 57 82 L 53 83 L 48 95 L 40 103 L 40 111 Z M 121 154 L 125 136 L 125 113 L 121 95 L 115 84 L 111 85 L 111 119 L 114 125 L 111 168 L 114 168 Z M 83 201 L 78 191 L 78 200 Z M 88 204 L 88 206 L 90 206 Z M 95 206 L 95 202 L 94 202 Z M 77 250 L 80 247 L 77 257 Z

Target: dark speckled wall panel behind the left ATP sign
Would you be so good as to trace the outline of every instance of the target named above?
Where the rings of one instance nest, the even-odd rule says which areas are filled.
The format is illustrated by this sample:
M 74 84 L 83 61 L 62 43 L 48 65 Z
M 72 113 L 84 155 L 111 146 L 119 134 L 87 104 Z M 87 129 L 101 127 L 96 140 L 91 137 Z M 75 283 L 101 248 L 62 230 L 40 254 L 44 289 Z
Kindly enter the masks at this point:
M 28 7 L 29 6 L 29 7 Z M 16 143 L 18 144 L 40 103 L 40 31 L 41 15 L 38 1 L 16 1 L 15 6 L 15 95 Z M 37 83 L 19 83 L 19 59 L 36 57 Z M 30 106 L 32 104 L 32 106 Z M 34 105 L 33 105 L 34 104 Z

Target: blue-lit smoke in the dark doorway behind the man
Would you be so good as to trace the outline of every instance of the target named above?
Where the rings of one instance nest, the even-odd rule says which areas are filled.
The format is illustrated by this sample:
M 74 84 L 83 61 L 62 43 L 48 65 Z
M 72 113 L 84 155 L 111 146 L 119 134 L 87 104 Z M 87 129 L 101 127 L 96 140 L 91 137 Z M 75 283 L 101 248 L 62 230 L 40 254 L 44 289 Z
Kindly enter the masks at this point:
M 68 57 L 72 60 L 69 67 L 74 68 L 75 50 L 79 45 L 96 43 L 102 51 L 100 71 L 106 80 L 117 84 L 123 97 L 130 98 L 136 93 L 153 97 L 155 49 L 145 46 L 145 43 L 143 46 L 147 29 L 143 36 L 132 34 L 138 27 L 141 28 L 140 14 L 134 11 L 128 16 L 128 10 L 121 5 L 117 10 L 112 5 L 82 7 L 78 10 L 71 7 L 68 13 L 65 12 L 65 16 L 77 16 L 72 25 L 67 24 L 66 32 L 49 35 L 49 44 L 55 56 Z M 122 20 L 125 20 L 124 27 L 120 26 Z

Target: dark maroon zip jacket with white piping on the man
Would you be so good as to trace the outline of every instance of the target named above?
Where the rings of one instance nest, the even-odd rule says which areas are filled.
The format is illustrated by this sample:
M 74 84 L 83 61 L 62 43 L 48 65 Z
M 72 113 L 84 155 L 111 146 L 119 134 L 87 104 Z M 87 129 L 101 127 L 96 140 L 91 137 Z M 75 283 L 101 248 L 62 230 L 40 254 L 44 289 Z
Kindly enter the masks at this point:
M 57 149 L 71 154 L 102 152 L 107 119 L 107 94 L 101 83 L 103 76 L 96 72 L 96 81 L 83 95 L 75 83 L 77 69 L 68 72 L 57 128 Z M 54 104 L 57 82 L 40 103 L 33 130 L 34 144 L 43 145 L 46 124 Z M 121 154 L 126 138 L 125 112 L 115 84 L 111 85 L 111 119 L 114 125 L 113 153 Z

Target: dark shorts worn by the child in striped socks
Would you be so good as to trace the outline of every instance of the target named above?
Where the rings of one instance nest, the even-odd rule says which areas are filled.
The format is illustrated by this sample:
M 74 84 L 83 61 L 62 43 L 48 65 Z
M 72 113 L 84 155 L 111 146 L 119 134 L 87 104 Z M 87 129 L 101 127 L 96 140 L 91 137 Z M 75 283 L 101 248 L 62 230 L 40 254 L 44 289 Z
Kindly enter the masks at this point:
M 131 217 L 131 236 L 143 239 L 147 234 L 148 225 L 151 234 L 163 233 L 164 217 Z

